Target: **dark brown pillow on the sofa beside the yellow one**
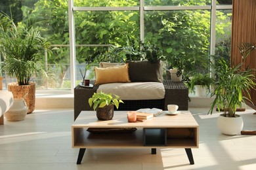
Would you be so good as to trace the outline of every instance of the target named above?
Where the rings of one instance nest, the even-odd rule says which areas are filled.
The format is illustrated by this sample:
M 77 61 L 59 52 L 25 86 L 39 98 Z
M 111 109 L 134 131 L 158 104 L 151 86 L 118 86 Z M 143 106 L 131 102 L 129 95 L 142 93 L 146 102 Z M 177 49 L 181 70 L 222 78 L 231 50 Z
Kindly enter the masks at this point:
M 161 82 L 160 61 L 126 61 L 131 82 Z

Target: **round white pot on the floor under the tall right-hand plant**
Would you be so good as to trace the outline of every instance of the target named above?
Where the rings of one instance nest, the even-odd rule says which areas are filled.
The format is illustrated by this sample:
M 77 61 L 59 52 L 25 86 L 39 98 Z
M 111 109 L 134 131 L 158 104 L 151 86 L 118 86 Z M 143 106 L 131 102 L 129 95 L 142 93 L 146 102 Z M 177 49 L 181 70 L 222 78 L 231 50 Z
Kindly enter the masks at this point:
M 222 115 L 222 114 L 221 114 Z M 241 133 L 244 127 L 244 121 L 242 116 L 237 115 L 235 118 L 228 118 L 219 116 L 217 120 L 217 126 L 224 135 L 238 135 Z

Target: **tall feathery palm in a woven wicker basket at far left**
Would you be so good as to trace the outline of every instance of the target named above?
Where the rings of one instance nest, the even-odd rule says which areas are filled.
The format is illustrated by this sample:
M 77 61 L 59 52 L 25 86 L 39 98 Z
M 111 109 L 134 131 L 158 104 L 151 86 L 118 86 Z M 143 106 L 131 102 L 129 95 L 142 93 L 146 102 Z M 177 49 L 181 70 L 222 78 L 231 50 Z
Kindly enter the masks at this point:
M 25 101 L 31 113 L 35 108 L 35 83 L 31 78 L 48 75 L 42 56 L 50 48 L 50 42 L 41 36 L 33 19 L 16 26 L 9 16 L 1 14 L 0 22 L 0 52 L 4 58 L 1 69 L 6 75 L 17 78 L 17 82 L 8 84 L 8 90 L 14 99 L 28 93 Z

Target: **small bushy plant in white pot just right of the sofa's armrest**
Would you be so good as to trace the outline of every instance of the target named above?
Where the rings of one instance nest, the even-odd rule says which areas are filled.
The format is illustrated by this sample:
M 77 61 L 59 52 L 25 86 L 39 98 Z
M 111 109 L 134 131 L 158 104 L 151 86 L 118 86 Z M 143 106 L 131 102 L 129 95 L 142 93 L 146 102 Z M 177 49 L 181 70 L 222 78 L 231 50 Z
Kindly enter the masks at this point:
M 213 78 L 209 74 L 196 73 L 192 76 L 188 86 L 196 96 L 200 97 L 207 94 L 211 84 L 213 84 Z

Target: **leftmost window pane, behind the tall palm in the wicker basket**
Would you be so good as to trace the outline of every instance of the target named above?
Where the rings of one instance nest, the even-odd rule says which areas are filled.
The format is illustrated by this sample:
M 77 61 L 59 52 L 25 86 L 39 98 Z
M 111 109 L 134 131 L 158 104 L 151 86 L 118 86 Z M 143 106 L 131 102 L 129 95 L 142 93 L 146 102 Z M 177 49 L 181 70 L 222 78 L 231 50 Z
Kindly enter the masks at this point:
M 69 32 L 68 32 L 68 1 L 4 1 L 0 3 L 1 9 L 5 13 L 11 14 L 14 18 L 14 22 L 26 22 L 28 19 L 33 18 L 37 21 L 37 26 L 40 29 L 40 33 L 43 37 L 51 39 L 51 44 L 68 44 Z M 11 12 L 9 5 L 11 4 Z M 53 47 L 54 48 L 54 47 Z M 69 67 L 69 46 L 55 47 L 52 50 L 52 54 L 48 53 L 42 56 L 42 60 L 45 61 L 45 68 L 54 69 L 54 75 L 52 78 L 56 78 L 56 81 L 48 78 L 40 78 L 38 76 L 32 76 L 32 81 L 36 83 L 37 90 L 58 90 L 63 89 L 62 80 L 66 80 L 66 69 L 64 66 Z M 58 63 L 58 65 L 56 65 Z M 69 68 L 68 68 L 69 69 Z M 67 70 L 68 70 L 67 69 Z M 5 78 L 5 84 L 9 82 L 15 82 L 16 78 Z M 6 88 L 6 86 L 5 86 Z M 70 87 L 69 87 L 70 88 Z

